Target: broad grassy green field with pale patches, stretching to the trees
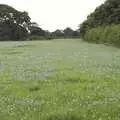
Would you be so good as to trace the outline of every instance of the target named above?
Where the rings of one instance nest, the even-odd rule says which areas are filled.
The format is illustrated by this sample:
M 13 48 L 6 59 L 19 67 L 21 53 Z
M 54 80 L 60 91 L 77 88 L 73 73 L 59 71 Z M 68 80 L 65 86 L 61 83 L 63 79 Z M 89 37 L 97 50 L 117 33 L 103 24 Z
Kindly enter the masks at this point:
M 120 120 L 120 49 L 0 42 L 0 120 Z

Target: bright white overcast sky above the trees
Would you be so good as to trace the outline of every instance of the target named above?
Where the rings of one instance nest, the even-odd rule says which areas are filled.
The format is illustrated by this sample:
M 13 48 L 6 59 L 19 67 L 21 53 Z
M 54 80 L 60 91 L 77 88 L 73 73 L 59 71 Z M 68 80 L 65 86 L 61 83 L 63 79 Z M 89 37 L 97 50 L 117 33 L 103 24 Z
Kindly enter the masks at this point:
M 0 0 L 17 10 L 27 11 L 32 22 L 44 30 L 78 29 L 87 16 L 105 0 Z

